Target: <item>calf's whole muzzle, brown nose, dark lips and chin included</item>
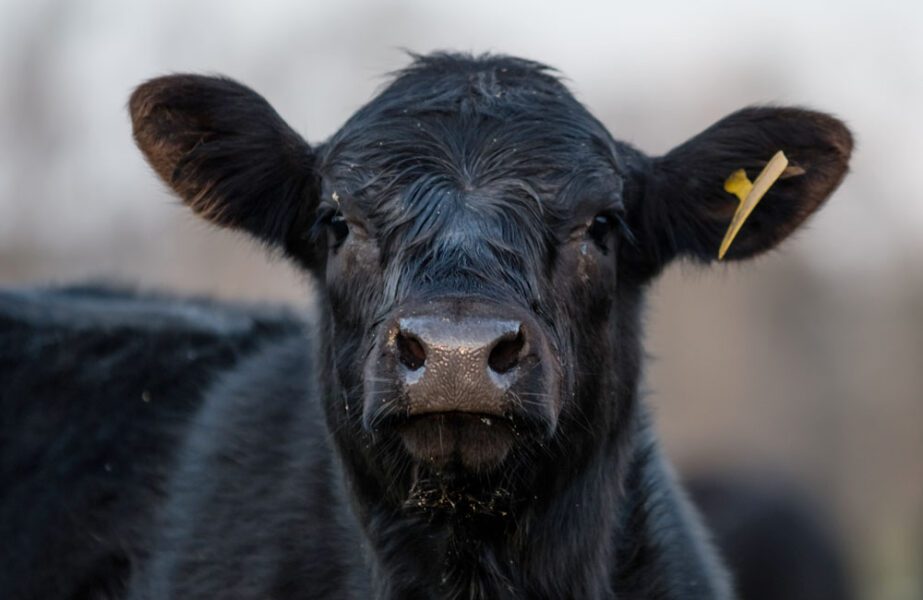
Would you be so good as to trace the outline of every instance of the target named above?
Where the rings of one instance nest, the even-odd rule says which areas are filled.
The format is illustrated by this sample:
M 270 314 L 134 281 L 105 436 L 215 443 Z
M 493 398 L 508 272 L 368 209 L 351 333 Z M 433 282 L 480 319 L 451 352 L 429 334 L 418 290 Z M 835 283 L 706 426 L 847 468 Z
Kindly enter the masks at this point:
M 395 432 L 417 460 L 483 471 L 517 440 L 549 435 L 556 365 L 530 315 L 464 299 L 405 309 L 366 365 L 365 424 Z

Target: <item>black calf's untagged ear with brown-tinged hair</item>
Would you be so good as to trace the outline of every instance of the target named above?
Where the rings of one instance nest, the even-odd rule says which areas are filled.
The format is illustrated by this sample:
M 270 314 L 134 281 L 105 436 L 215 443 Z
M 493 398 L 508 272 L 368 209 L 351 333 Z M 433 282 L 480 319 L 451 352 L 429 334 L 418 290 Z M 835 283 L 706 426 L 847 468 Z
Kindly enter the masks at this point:
M 317 260 L 307 235 L 314 152 L 262 96 L 229 79 L 171 75 L 139 86 L 129 110 L 141 152 L 198 215 Z

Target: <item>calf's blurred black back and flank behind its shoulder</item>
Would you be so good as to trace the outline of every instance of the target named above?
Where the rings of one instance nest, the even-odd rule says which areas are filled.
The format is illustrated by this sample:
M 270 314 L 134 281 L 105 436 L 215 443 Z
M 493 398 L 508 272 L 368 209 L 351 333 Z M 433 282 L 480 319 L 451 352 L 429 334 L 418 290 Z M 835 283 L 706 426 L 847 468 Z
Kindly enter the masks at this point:
M 217 373 L 284 312 L 99 286 L 0 292 L 0 590 L 119 598 Z

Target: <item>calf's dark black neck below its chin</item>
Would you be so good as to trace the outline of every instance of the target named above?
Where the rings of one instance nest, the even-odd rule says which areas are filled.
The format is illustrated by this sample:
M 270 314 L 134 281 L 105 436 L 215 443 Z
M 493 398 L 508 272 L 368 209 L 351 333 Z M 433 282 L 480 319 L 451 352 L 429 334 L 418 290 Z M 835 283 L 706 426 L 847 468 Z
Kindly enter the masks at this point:
M 612 405 L 633 405 L 630 396 Z M 626 429 L 637 428 L 633 412 L 622 416 Z M 484 523 L 432 520 L 386 506 L 381 491 L 367 485 L 370 474 L 357 470 L 361 458 L 341 454 L 344 493 L 369 543 L 376 597 L 610 597 L 622 537 L 618 507 L 635 455 L 632 431 L 610 432 L 580 468 L 551 478 L 544 497 L 524 499 L 504 519 Z

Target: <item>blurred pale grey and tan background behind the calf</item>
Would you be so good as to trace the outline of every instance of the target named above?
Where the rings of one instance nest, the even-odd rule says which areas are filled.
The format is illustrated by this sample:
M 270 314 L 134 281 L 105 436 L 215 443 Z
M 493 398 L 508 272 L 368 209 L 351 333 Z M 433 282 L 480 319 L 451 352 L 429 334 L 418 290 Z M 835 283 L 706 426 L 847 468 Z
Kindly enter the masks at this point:
M 560 69 L 662 153 L 752 103 L 846 120 L 852 174 L 780 251 L 653 288 L 647 387 L 685 475 L 786 481 L 858 597 L 923 597 L 923 3 L 2 0 L 0 284 L 106 279 L 305 306 L 310 283 L 196 221 L 135 150 L 142 80 L 223 73 L 307 139 L 407 63 L 494 51 Z

